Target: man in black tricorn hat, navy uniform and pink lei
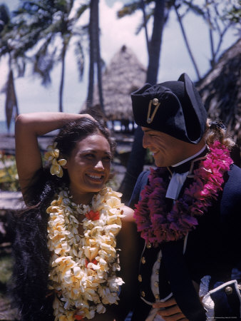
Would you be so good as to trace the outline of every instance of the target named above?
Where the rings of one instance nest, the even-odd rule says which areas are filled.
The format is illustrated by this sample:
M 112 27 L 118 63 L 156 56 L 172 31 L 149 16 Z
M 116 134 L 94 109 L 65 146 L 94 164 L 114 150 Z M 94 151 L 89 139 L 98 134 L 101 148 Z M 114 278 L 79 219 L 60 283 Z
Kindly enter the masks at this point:
M 145 240 L 132 320 L 241 315 L 241 169 L 222 123 L 211 123 L 186 73 L 131 95 L 157 169 L 140 174 L 130 206 Z

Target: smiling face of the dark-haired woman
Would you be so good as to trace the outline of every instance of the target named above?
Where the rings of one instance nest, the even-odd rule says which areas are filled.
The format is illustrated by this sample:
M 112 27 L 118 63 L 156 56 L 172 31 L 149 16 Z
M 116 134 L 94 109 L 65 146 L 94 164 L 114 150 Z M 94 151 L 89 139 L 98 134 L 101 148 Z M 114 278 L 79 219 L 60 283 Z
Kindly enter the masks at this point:
M 74 202 L 83 203 L 81 198 L 88 198 L 86 194 L 100 191 L 108 180 L 111 171 L 108 141 L 101 134 L 78 141 L 64 167 L 68 170 Z

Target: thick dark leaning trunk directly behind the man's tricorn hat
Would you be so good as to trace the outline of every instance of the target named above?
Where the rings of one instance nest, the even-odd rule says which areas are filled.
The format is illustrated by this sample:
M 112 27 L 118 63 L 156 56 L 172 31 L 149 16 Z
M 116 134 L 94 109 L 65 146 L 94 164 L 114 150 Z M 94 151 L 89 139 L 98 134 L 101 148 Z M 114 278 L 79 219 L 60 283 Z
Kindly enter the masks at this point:
M 165 0 L 155 0 L 155 11 L 153 21 L 153 34 L 149 44 L 149 63 L 146 82 L 155 84 L 158 77 L 160 60 L 160 44 L 163 35 Z M 135 186 L 138 175 L 143 170 L 145 162 L 145 148 L 143 148 L 143 131 L 138 126 L 135 130 L 133 148 L 128 159 L 125 177 L 120 185 L 120 193 L 123 193 L 123 202 L 128 203 L 130 195 Z

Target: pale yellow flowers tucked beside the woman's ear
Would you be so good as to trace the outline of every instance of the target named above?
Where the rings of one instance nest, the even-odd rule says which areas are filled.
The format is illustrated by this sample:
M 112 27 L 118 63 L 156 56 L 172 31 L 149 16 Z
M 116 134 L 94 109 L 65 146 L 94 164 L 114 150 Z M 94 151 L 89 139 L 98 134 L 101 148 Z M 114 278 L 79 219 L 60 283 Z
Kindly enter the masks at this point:
M 52 165 L 50 168 L 51 175 L 57 175 L 58 177 L 63 176 L 63 168 L 61 166 L 66 165 L 67 161 L 64 158 L 58 160 L 59 150 L 56 148 L 57 143 L 53 143 L 53 145 L 49 145 L 47 147 L 47 152 L 44 154 L 44 161 L 51 161 Z

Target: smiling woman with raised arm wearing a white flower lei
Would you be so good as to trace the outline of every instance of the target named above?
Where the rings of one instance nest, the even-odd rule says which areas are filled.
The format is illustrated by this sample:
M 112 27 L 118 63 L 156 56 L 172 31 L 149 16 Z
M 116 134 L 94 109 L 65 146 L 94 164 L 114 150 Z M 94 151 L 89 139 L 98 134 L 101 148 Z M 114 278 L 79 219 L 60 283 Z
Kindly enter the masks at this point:
M 37 137 L 58 128 L 43 168 Z M 124 320 L 135 288 L 135 225 L 121 194 L 106 187 L 108 130 L 86 114 L 29 113 L 16 119 L 15 136 L 27 205 L 14 241 L 21 320 Z

